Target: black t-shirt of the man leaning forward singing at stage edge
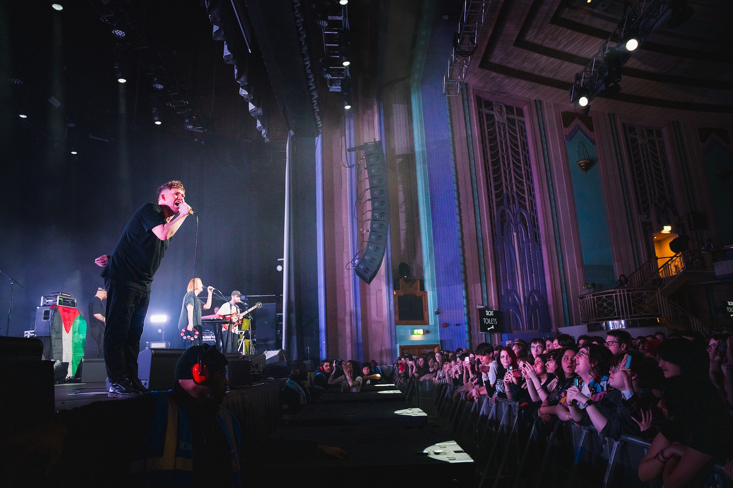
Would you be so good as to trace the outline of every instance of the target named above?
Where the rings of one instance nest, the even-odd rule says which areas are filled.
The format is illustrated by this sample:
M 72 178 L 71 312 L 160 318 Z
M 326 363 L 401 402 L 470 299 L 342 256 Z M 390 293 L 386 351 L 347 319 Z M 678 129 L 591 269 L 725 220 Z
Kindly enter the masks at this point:
M 171 241 L 158 239 L 152 228 L 165 223 L 166 215 L 157 203 L 145 203 L 137 209 L 119 236 L 102 277 L 150 293 L 152 277 Z

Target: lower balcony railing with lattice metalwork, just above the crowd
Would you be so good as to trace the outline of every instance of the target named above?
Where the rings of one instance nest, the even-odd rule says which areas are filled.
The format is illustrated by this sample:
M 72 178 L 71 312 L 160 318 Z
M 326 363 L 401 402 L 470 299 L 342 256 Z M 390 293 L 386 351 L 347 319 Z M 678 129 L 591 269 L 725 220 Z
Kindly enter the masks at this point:
M 700 320 L 666 299 L 659 288 L 619 288 L 578 297 L 583 323 L 663 318 L 672 328 L 705 333 Z

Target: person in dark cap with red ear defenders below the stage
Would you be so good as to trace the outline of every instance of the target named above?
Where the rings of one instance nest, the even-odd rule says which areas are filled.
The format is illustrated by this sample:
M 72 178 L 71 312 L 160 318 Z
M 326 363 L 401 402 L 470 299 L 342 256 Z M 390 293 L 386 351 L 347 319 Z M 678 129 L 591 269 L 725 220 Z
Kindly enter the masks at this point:
M 21 476 L 23 486 L 52 484 L 50 473 L 65 486 L 241 487 L 242 432 L 221 407 L 227 363 L 213 346 L 197 345 L 178 360 L 172 390 L 62 410 L 48 424 L 0 443 L 0 475 Z M 248 457 L 262 463 L 275 453 L 348 456 L 316 443 L 261 440 Z

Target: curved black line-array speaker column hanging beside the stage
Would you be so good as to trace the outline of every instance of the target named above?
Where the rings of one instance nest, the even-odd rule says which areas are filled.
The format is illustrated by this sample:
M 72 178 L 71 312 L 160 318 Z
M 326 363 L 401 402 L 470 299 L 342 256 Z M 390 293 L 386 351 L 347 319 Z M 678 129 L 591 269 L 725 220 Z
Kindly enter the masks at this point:
M 350 148 L 348 151 L 361 149 L 364 149 L 364 157 L 367 159 L 367 179 L 369 179 L 369 201 L 372 206 L 372 214 L 367 247 L 354 269 L 356 275 L 369 284 L 377 276 L 377 271 L 382 266 L 384 259 L 389 231 L 389 188 L 382 142 L 375 140 L 356 148 Z

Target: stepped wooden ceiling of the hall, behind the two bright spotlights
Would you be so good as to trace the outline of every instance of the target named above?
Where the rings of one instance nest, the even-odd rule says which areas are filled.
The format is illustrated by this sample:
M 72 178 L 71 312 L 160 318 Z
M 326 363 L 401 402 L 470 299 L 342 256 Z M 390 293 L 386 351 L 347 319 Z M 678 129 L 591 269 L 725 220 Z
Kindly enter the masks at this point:
M 613 98 L 665 108 L 733 112 L 733 2 L 690 1 L 682 26 L 661 26 L 625 65 Z M 493 1 L 469 83 L 568 102 L 575 73 L 623 15 L 620 0 Z M 519 83 L 523 80 L 528 83 Z

